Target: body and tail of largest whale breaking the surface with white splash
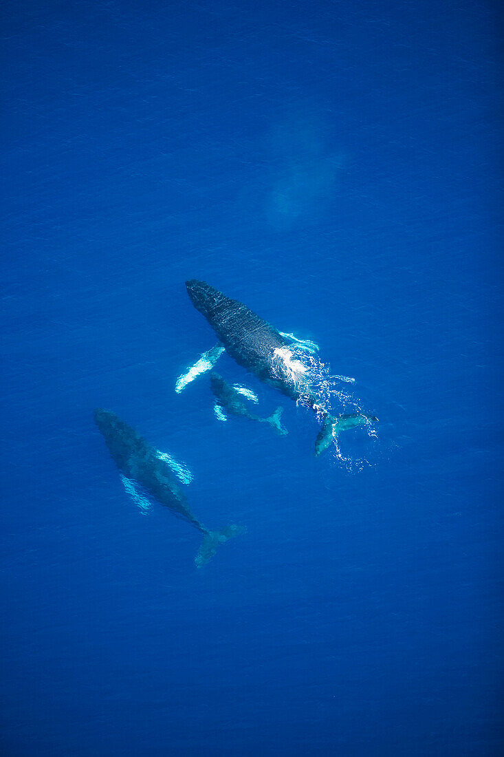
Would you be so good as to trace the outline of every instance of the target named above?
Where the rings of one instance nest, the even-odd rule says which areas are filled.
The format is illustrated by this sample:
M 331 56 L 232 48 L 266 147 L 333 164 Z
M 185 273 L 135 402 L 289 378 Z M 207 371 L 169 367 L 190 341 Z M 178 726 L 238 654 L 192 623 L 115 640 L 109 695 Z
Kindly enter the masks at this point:
M 285 335 L 260 318 L 238 300 L 232 300 L 206 282 L 191 279 L 185 282 L 192 304 L 205 316 L 219 342 L 236 362 L 257 375 L 261 381 L 294 400 L 310 407 L 322 419 L 322 428 L 316 439 L 315 453 L 319 456 L 338 436 L 339 431 L 353 428 L 366 421 L 377 419 L 355 413 L 353 416 L 334 418 L 322 406 L 306 366 L 294 355 L 292 342 Z M 344 423 L 347 419 L 347 423 Z

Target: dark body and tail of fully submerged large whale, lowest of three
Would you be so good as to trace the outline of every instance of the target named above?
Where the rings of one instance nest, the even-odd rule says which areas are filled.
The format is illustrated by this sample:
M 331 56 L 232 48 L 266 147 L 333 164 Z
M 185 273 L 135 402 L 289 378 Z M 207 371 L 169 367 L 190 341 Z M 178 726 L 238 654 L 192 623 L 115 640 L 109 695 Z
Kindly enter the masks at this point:
M 241 533 L 237 525 L 228 525 L 219 531 L 210 531 L 191 512 L 184 491 L 170 466 L 168 456 L 158 452 L 110 410 L 97 408 L 95 422 L 117 468 L 128 481 L 135 481 L 148 495 L 167 507 L 173 514 L 201 531 L 203 542 L 194 562 L 201 568 L 216 553 L 219 544 L 224 544 Z M 135 488 L 132 486 L 132 491 Z

